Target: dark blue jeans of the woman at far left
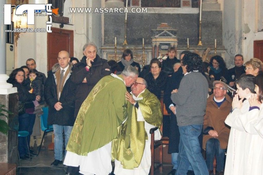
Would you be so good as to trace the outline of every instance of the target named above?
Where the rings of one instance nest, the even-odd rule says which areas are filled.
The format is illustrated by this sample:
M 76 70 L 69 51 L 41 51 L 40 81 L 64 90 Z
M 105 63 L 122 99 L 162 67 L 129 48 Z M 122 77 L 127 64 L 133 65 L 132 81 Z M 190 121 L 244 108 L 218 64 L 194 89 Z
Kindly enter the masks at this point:
M 18 151 L 19 156 L 23 157 L 24 155 L 28 154 L 27 143 L 28 146 L 30 145 L 30 135 L 33 132 L 33 126 L 35 123 L 36 114 L 27 114 L 24 113 L 23 115 L 18 116 L 19 121 L 19 131 L 27 131 L 29 135 L 26 137 L 18 137 Z

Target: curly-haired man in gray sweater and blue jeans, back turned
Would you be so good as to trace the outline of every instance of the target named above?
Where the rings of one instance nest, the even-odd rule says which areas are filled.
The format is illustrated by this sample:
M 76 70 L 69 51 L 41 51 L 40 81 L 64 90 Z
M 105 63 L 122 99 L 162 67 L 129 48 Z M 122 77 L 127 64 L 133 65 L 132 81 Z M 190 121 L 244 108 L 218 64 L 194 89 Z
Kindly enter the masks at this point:
M 172 92 L 176 104 L 176 118 L 180 132 L 178 169 L 175 174 L 186 174 L 189 164 L 196 175 L 208 175 L 201 154 L 198 136 L 202 132 L 208 82 L 202 71 L 202 59 L 195 53 L 185 54 L 181 60 L 184 77 L 179 89 Z

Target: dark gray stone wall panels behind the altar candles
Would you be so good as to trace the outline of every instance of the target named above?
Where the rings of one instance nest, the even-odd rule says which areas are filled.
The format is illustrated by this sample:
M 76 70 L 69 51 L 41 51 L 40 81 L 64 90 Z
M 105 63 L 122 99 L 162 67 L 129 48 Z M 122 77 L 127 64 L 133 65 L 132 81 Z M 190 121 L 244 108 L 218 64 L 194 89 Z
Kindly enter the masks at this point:
M 104 45 L 113 45 L 114 37 L 117 43 L 124 41 L 123 13 L 104 14 Z M 199 13 L 197 14 L 164 14 L 164 13 L 129 13 L 127 16 L 127 41 L 129 45 L 142 45 L 142 38 L 146 45 L 151 44 L 154 36 L 152 29 L 156 29 L 161 23 L 168 23 L 174 29 L 178 29 L 177 37 L 179 45 L 186 45 L 189 38 L 190 45 L 197 45 L 199 33 Z M 202 43 L 203 45 L 222 45 L 222 12 L 202 12 Z

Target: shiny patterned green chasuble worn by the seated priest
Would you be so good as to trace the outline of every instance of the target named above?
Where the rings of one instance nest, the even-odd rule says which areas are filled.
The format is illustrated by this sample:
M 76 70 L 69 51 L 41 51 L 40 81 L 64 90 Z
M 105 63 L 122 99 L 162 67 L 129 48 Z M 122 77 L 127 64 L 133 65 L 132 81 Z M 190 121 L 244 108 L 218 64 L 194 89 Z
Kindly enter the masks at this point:
M 160 128 L 163 114 L 158 98 L 145 89 L 137 97 L 137 103 L 144 120 Z M 137 121 L 138 109 L 128 102 L 127 110 L 128 118 L 120 126 L 119 135 L 112 143 L 112 159 L 120 161 L 125 169 L 134 169 L 140 165 L 148 136 L 144 128 L 145 121 Z

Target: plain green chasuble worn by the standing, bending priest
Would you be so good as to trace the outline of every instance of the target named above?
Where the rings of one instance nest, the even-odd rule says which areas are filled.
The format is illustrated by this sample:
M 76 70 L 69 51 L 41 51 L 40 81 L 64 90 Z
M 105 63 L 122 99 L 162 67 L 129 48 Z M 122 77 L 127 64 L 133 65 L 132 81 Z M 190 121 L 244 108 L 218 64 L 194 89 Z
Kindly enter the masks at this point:
M 127 90 L 122 76 L 114 76 L 103 77 L 82 103 L 70 134 L 68 151 L 87 155 L 118 136 L 117 128 L 127 118 Z

